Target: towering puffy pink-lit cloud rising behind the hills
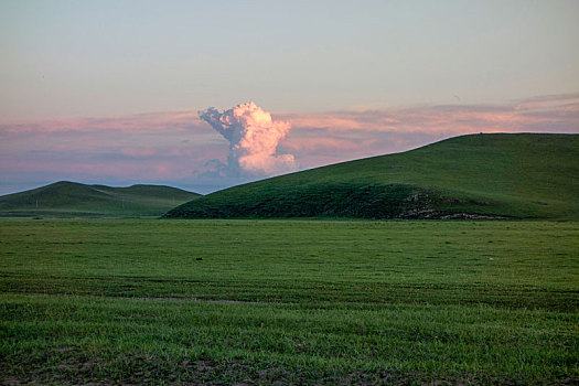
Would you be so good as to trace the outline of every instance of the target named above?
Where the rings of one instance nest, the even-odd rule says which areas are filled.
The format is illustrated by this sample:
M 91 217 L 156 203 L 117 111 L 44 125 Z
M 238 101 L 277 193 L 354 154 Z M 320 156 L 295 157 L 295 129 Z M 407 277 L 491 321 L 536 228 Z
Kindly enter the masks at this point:
M 208 108 L 200 111 L 200 118 L 229 141 L 226 165 L 229 174 L 271 175 L 297 169 L 292 154 L 276 154 L 290 124 L 274 121 L 255 103 L 240 104 L 224 112 Z

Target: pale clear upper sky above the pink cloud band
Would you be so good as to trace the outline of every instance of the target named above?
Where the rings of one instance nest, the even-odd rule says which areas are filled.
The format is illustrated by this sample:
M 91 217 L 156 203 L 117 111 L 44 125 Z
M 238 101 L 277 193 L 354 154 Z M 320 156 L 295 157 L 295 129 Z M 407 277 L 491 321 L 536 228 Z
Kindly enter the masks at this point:
M 0 120 L 576 93 L 578 20 L 560 0 L 4 0 Z

